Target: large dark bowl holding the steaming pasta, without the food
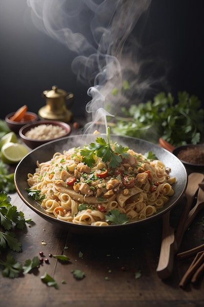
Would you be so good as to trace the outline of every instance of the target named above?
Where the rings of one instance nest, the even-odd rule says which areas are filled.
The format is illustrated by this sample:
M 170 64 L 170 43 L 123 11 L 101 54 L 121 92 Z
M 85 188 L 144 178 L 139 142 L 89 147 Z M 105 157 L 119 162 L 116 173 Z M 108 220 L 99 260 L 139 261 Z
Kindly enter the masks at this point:
M 96 135 L 89 136 L 89 142 L 94 142 Z M 118 142 L 122 146 L 129 146 L 130 149 L 135 150 L 136 152 L 145 154 L 147 152 L 154 153 L 159 160 L 161 160 L 166 166 L 171 169 L 171 177 L 176 177 L 177 181 L 174 184 L 174 195 L 170 197 L 168 202 L 158 210 L 157 214 L 154 214 L 146 219 L 138 220 L 133 223 L 127 223 L 123 225 L 109 225 L 109 226 L 91 226 L 91 225 L 78 225 L 68 221 L 63 221 L 57 219 L 53 214 L 50 214 L 42 208 L 41 205 L 38 205 L 35 200 L 28 196 L 26 188 L 27 184 L 27 174 L 34 173 L 37 167 L 37 161 L 39 163 L 49 161 L 53 154 L 56 152 L 63 152 L 72 147 L 82 147 L 84 144 L 87 144 L 88 139 L 83 138 L 83 135 L 73 135 L 61 138 L 56 141 L 46 143 L 28 153 L 23 160 L 18 164 L 15 170 L 15 184 L 16 189 L 23 200 L 23 202 L 28 205 L 32 210 L 39 214 L 42 218 L 52 223 L 56 227 L 62 227 L 64 230 L 70 230 L 78 234 L 85 235 L 108 235 L 116 234 L 121 231 L 124 234 L 125 230 L 131 230 L 132 233 L 137 233 L 137 226 L 146 226 L 151 221 L 158 219 L 162 214 L 172 209 L 181 199 L 183 193 L 185 192 L 187 185 L 187 172 L 186 169 L 181 163 L 181 161 L 169 151 L 160 148 L 159 146 L 152 144 L 141 139 L 125 137 L 125 136 L 116 136 L 111 135 L 113 142 Z M 137 229 L 137 230 L 136 230 Z

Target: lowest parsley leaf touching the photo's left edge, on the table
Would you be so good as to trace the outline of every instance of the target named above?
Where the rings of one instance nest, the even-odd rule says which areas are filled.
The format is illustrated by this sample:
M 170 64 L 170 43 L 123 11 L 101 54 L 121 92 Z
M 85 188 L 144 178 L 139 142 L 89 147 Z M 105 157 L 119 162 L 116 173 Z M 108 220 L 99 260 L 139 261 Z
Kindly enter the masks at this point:
M 0 264 L 4 267 L 3 277 L 16 278 L 23 271 L 22 264 L 17 262 L 10 254 L 7 255 L 6 261 L 0 259 Z

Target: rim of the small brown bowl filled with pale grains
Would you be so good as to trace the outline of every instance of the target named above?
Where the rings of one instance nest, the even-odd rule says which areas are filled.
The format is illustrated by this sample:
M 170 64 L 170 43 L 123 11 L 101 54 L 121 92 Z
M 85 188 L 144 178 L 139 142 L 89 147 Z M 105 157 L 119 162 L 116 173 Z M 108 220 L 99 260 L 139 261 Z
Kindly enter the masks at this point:
M 31 139 L 27 136 L 25 136 L 23 133 L 24 130 L 26 130 L 25 132 L 28 131 L 28 128 L 34 128 L 36 126 L 39 126 L 39 125 L 44 125 L 44 124 L 54 124 L 53 126 L 60 126 L 60 127 L 64 127 L 64 130 L 66 130 L 66 133 L 64 135 L 62 135 L 60 138 L 62 137 L 66 137 L 68 136 L 68 134 L 71 132 L 71 127 L 68 123 L 65 123 L 65 122 L 61 122 L 61 121 L 55 121 L 55 120 L 40 120 L 40 121 L 36 121 L 34 123 L 28 123 L 26 125 L 24 125 L 22 128 L 20 128 L 19 130 L 19 135 L 22 139 L 26 140 L 26 141 L 29 141 L 29 142 L 34 142 L 34 143 L 47 143 L 47 142 L 50 142 L 50 141 L 54 141 L 54 140 L 57 140 L 59 139 L 59 137 L 55 137 L 55 138 L 51 138 L 51 139 L 46 139 L 46 140 L 37 140 L 37 139 Z

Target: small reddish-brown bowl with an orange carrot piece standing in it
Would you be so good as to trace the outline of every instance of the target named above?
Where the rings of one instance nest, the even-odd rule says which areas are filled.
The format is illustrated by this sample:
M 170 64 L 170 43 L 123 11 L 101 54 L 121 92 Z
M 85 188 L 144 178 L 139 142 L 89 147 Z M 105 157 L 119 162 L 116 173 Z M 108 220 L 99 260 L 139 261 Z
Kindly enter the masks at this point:
M 38 120 L 38 115 L 36 113 L 27 111 L 23 117 L 23 121 L 15 122 L 10 120 L 14 114 L 15 112 L 7 114 L 5 117 L 5 122 L 8 128 L 15 133 L 18 133 L 20 128 L 22 128 L 24 125 L 36 122 Z

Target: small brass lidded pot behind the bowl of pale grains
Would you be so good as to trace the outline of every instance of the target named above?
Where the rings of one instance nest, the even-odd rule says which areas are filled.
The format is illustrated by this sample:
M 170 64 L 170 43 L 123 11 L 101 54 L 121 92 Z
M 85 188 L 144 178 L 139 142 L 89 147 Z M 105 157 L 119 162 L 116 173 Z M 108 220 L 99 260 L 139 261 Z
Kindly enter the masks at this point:
M 45 97 L 46 105 L 38 111 L 42 119 L 50 119 L 55 121 L 70 122 L 72 113 L 69 108 L 74 102 L 74 95 L 59 89 L 56 85 L 51 90 L 46 90 L 42 94 Z M 68 101 L 68 106 L 66 105 Z

